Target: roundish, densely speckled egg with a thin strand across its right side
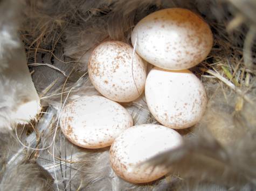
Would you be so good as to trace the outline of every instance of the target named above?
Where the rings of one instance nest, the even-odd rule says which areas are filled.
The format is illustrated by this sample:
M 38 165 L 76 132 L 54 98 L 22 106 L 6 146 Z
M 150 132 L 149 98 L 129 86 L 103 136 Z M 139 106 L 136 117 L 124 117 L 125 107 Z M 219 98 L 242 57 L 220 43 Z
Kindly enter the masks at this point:
M 142 58 L 130 45 L 119 41 L 106 41 L 94 49 L 88 73 L 96 90 L 118 102 L 139 98 L 146 81 Z

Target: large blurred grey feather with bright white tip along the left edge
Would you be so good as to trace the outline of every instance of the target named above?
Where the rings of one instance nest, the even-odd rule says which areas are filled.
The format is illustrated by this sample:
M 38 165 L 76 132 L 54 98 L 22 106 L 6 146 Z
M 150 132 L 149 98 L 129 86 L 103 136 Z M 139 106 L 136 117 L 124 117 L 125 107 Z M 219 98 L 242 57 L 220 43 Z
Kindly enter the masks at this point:
M 22 1 L 1 1 L 0 12 L 0 128 L 28 123 L 40 109 L 26 55 L 18 36 Z

